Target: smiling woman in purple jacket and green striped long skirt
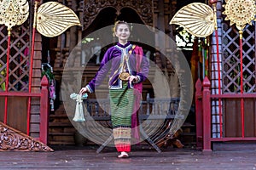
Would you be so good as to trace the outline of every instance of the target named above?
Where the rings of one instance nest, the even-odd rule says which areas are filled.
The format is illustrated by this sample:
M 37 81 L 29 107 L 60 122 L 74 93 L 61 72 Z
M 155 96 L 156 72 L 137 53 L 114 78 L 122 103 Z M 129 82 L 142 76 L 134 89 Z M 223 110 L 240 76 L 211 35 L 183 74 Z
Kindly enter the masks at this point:
M 137 125 L 131 121 L 136 120 L 136 114 L 132 113 L 137 111 L 149 63 L 143 57 L 143 49 L 128 42 L 131 31 L 125 21 L 117 21 L 113 33 L 119 42 L 108 48 L 96 76 L 79 93 L 95 92 L 110 71 L 108 85 L 113 139 L 120 153 L 118 157 L 123 158 L 131 151 L 131 127 Z

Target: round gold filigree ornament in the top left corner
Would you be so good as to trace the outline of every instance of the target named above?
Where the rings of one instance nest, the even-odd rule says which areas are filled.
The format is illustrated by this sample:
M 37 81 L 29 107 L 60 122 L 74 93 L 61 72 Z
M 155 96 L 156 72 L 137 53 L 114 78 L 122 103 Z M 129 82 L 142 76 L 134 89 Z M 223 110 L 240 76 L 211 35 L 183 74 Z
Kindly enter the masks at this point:
M 26 0 L 1 0 L 0 1 L 0 25 L 7 26 L 11 30 L 13 26 L 23 24 L 29 14 L 29 5 Z

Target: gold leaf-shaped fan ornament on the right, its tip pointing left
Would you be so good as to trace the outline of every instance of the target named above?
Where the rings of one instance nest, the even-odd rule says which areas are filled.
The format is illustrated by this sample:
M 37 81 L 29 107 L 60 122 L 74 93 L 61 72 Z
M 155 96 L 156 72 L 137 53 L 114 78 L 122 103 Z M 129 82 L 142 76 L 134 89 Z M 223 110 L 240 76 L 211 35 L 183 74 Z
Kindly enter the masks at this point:
M 215 14 L 205 3 L 189 3 L 179 9 L 170 24 L 177 24 L 195 37 L 207 37 L 215 29 Z

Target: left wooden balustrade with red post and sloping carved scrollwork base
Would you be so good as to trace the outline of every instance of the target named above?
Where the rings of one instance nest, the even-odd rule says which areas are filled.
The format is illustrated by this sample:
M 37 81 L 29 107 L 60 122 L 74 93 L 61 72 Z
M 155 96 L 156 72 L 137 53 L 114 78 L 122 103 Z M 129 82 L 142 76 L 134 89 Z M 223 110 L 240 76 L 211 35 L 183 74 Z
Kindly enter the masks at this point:
M 27 121 L 26 117 L 21 120 L 20 115 L 25 115 L 27 108 L 20 109 L 15 107 L 15 110 L 8 110 L 7 117 L 9 122 L 7 124 L 0 122 L 0 127 L 3 129 L 0 133 L 0 151 L 17 150 L 17 151 L 53 151 L 46 144 L 48 144 L 48 129 L 49 129 L 49 81 L 47 77 L 43 77 L 41 81 L 41 92 L 40 93 L 24 93 L 24 92 L 3 92 L 0 93 L 0 97 L 15 99 L 17 105 L 26 105 L 27 98 L 32 97 L 33 99 L 40 100 L 40 111 L 39 114 L 32 114 L 32 110 L 29 111 L 29 116 L 32 117 L 30 122 Z M 20 101 L 20 99 L 26 99 L 26 103 Z M 9 105 L 13 107 L 14 104 Z M 18 108 L 18 110 L 17 110 Z M 11 120 L 11 121 L 10 121 Z M 24 127 L 24 124 L 28 123 L 31 127 L 38 126 L 38 136 L 29 136 L 27 133 L 32 132 L 32 128 L 20 129 Z M 16 125 L 16 127 L 15 127 Z M 19 126 L 18 126 L 19 125 Z M 10 127 L 11 126 L 11 127 Z M 26 133 L 25 133 L 26 132 Z M 9 141 L 9 142 L 6 142 Z

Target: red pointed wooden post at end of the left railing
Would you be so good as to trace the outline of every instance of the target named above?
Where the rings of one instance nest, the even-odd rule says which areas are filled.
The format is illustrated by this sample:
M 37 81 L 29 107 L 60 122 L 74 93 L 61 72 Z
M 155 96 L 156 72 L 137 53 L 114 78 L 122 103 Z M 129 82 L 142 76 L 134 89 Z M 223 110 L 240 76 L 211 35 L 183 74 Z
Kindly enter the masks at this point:
M 41 81 L 41 99 L 40 99 L 40 141 L 48 144 L 49 131 L 49 81 L 46 76 Z

